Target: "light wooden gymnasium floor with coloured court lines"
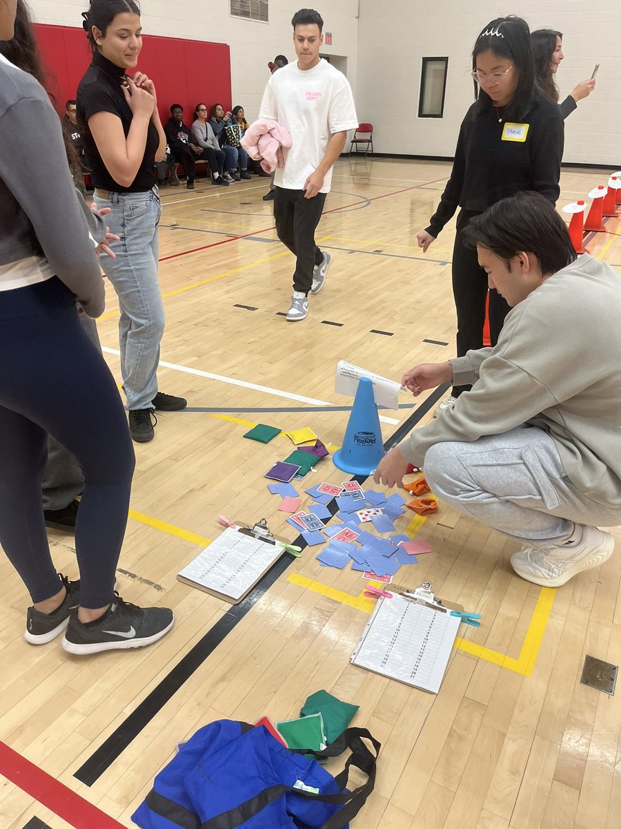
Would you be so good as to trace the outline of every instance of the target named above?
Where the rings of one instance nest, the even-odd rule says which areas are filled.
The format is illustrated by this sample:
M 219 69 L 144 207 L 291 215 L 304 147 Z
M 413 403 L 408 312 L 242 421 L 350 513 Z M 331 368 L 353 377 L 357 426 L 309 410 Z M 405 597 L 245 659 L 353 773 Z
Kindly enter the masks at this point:
M 621 691 L 609 697 L 579 681 L 586 653 L 621 662 L 621 555 L 564 588 L 539 589 L 510 569 L 516 545 L 469 518 L 440 504 L 427 520 L 399 519 L 398 531 L 436 552 L 397 580 L 429 578 L 443 599 L 483 615 L 481 628 L 461 628 L 437 696 L 349 665 L 371 603 L 360 598 L 359 574 L 320 567 L 320 548 L 286 557 L 242 609 L 176 579 L 218 535 L 219 513 L 266 517 L 273 531 L 296 535 L 263 478 L 291 441 L 244 440 L 250 425 L 310 426 L 339 446 L 348 412 L 335 407 L 351 405 L 335 395 L 339 359 L 398 379 L 416 362 L 454 354 L 454 222 L 427 255 L 416 247 L 449 172 L 441 162 L 339 161 L 318 231 L 334 264 L 297 324 L 278 316 L 293 259 L 261 199 L 267 179 L 162 188 L 160 386 L 190 408 L 159 414 L 156 439 L 136 445 L 118 583 L 125 599 L 173 607 L 176 627 L 136 652 L 79 658 L 60 640 L 31 647 L 22 639 L 26 592 L 0 560 L 0 772 L 10 778 L 0 777 L 0 827 L 131 827 L 177 742 L 223 717 L 296 716 L 320 688 L 359 705 L 354 725 L 382 742 L 376 789 L 355 827 L 621 827 Z M 560 204 L 606 176 L 563 172 Z M 619 221 L 608 230 L 621 233 Z M 590 249 L 621 270 L 619 235 L 600 234 Z M 99 335 L 120 377 L 107 289 Z M 381 413 L 385 439 L 414 413 L 411 398 L 402 403 L 409 408 Z M 304 487 L 346 478 L 328 459 Z M 58 569 L 75 577 L 72 536 L 50 537 Z M 7 747 L 29 761 L 19 786 L 11 780 L 22 761 Z

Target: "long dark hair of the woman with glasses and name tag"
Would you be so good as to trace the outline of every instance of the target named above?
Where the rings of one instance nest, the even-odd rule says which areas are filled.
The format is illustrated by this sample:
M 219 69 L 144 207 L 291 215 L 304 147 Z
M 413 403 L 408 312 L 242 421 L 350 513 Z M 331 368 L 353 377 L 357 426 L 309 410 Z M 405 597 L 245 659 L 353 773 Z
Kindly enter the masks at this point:
M 520 121 L 527 111 L 527 104 L 535 90 L 535 67 L 532 62 L 531 32 L 522 17 L 497 17 L 488 23 L 477 37 L 472 50 L 472 69 L 477 68 L 477 57 L 491 51 L 498 57 L 513 61 L 517 72 L 517 86 L 513 98 L 505 109 L 505 120 Z M 492 99 L 487 92 L 479 90 L 479 108 L 488 109 Z

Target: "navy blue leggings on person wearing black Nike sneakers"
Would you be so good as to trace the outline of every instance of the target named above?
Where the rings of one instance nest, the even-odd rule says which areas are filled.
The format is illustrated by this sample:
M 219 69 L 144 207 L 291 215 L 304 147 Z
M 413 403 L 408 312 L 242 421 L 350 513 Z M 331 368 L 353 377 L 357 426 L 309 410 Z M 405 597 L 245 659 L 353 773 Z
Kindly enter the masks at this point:
M 80 604 L 102 608 L 128 519 L 134 454 L 103 356 L 60 279 L 0 291 L 0 545 L 33 602 L 60 590 L 41 503 L 47 433 L 78 458 Z

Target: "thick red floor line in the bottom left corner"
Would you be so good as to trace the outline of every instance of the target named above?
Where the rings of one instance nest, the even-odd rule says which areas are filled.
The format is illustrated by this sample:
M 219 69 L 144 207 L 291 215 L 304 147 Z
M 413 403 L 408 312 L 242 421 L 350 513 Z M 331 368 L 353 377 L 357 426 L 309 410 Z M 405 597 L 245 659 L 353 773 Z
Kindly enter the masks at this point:
M 75 829 L 127 829 L 2 742 L 0 774 Z

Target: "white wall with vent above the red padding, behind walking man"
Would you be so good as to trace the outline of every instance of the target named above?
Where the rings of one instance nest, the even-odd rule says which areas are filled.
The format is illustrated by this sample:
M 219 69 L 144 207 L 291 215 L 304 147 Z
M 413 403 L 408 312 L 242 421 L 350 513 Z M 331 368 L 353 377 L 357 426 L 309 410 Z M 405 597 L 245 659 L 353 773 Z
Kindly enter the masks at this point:
M 88 0 L 29 0 L 36 22 L 60 26 L 82 25 L 80 13 Z M 269 22 L 260 23 L 231 17 L 229 0 L 142 0 L 142 25 L 145 35 L 185 37 L 199 41 L 228 43 L 231 49 L 232 105 L 241 104 L 249 120 L 256 118 L 263 90 L 269 78 L 267 61 L 277 55 L 295 59 L 291 17 L 303 0 L 270 0 Z M 332 32 L 333 46 L 325 46 L 322 54 L 347 58 L 348 76 L 352 87 L 356 82 L 358 43 L 358 0 L 306 0 L 325 21 L 325 31 Z M 148 37 L 143 46 L 149 48 Z M 338 66 L 341 69 L 341 65 Z M 200 72 L 200 67 L 196 67 Z M 166 71 L 166 66 L 162 66 Z M 156 80 L 156 79 L 154 79 Z M 209 97 L 209 78 L 205 78 Z

